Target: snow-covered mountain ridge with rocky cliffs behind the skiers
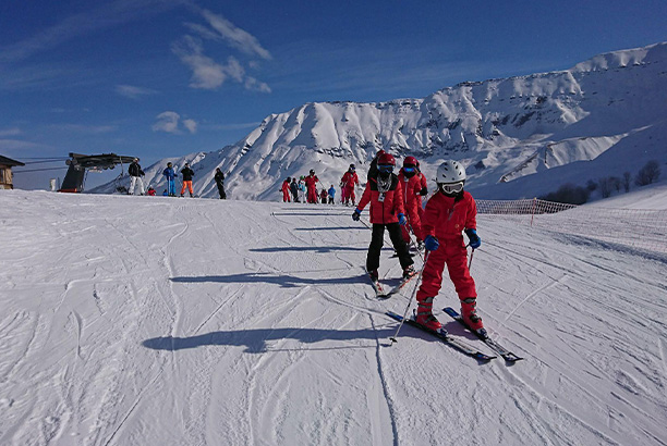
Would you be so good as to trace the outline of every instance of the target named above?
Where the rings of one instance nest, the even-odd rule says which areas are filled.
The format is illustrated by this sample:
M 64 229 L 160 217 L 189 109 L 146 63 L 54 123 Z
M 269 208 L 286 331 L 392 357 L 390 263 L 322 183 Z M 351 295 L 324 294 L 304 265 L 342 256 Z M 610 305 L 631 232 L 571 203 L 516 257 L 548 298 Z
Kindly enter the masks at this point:
M 442 159 L 468 166 L 481 198 L 534 197 L 565 183 L 635 174 L 667 162 L 667 42 L 596 55 L 570 70 L 448 87 L 423 99 L 315 102 L 271 114 L 239 143 L 146 170 L 163 188 L 167 161 L 195 170 L 215 197 L 216 168 L 232 198 L 275 200 L 287 176 L 314 169 L 327 187 L 377 150 L 415 156 L 427 177 Z M 113 184 L 93 191 L 108 193 Z

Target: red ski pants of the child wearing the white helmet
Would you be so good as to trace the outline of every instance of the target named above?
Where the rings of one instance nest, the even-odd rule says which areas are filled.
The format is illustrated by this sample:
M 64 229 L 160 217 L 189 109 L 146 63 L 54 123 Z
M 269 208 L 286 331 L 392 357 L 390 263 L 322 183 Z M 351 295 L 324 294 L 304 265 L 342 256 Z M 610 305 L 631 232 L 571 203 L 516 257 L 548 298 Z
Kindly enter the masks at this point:
M 468 270 L 468 251 L 463 245 L 463 237 L 456 239 L 440 239 L 440 247 L 428 252 L 428 259 L 422 273 L 422 286 L 417 292 L 417 301 L 427 297 L 436 297 L 442 286 L 442 272 L 445 265 L 449 272 L 449 278 L 453 282 L 459 299 L 477 297 L 475 281 Z

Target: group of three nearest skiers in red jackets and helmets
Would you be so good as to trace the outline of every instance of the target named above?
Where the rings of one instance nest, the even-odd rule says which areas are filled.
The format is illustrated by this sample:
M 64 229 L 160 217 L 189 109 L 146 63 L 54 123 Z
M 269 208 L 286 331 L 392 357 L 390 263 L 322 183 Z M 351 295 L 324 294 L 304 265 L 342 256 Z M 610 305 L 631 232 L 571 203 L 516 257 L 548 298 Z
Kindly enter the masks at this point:
M 463 190 L 465 169 L 453 160 L 441 163 L 436 174 L 437 191 L 425 208 L 422 207 L 422 197 L 428 194 L 428 189 L 419 161 L 414 157 L 407 157 L 398 175 L 395 169 L 393 156 L 380 150 L 371 163 L 366 187 L 352 213 L 352 219 L 359 221 L 366 205 L 371 203 L 373 232 L 366 256 L 371 280 L 374 283 L 378 281 L 385 230 L 403 269 L 403 280 L 416 274 L 407 244 L 412 233 L 417 245 L 423 244 L 426 250 L 422 283 L 416 294 L 416 322 L 434 331 L 442 327 L 433 314 L 433 300 L 440 290 L 447 265 L 461 302 L 463 321 L 472 330 L 483 329 L 482 319 L 476 312 L 477 293 L 470 275 L 462 235 L 465 233 L 471 248 L 481 246 L 476 232 L 476 205 L 472 195 Z

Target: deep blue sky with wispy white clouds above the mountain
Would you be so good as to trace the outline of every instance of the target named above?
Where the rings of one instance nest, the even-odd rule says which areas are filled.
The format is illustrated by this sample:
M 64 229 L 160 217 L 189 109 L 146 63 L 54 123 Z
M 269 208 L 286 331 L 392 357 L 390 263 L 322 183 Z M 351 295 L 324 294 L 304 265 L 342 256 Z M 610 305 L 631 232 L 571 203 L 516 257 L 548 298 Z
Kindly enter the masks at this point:
M 220 149 L 305 102 L 566 70 L 665 41 L 666 23 L 664 0 L 3 1 L 0 154 L 116 152 L 148 165 Z M 64 173 L 15 179 L 46 188 Z

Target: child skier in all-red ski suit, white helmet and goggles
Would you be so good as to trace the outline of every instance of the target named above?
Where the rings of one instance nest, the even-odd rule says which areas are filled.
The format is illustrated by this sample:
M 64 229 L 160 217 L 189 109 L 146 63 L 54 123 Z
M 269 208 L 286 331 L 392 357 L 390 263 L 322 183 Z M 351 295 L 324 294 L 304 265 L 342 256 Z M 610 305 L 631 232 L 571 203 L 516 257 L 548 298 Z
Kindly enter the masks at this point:
M 445 265 L 459 295 L 463 321 L 472 330 L 484 327 L 475 310 L 477 293 L 468 269 L 468 250 L 461 234 L 468 235 L 471 248 L 477 249 L 482 245 L 476 231 L 477 208 L 472 195 L 463 190 L 464 183 L 465 168 L 453 160 L 445 161 L 436 175 L 438 191 L 428 200 L 424 211 L 422 230 L 424 246 L 429 252 L 416 294 L 416 322 L 430 330 L 437 331 L 442 326 L 433 315 L 433 299 L 442 285 Z

